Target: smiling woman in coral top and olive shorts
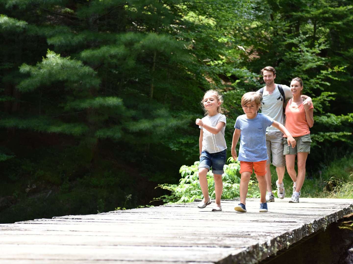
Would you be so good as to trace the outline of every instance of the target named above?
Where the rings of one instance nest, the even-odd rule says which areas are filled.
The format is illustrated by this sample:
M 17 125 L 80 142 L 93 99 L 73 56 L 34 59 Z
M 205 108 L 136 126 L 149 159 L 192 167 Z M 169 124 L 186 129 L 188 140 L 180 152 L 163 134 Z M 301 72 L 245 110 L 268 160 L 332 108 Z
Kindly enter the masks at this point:
M 300 189 L 305 179 L 305 163 L 310 153 L 310 130 L 314 124 L 312 103 L 304 102 L 301 98 L 303 81 L 295 77 L 291 82 L 293 98 L 289 99 L 286 106 L 286 128 L 291 133 L 297 144 L 294 148 L 284 144 L 283 155 L 286 156 L 286 167 L 293 180 L 293 195 L 290 203 L 299 203 Z M 294 169 L 295 155 L 297 155 L 298 175 Z

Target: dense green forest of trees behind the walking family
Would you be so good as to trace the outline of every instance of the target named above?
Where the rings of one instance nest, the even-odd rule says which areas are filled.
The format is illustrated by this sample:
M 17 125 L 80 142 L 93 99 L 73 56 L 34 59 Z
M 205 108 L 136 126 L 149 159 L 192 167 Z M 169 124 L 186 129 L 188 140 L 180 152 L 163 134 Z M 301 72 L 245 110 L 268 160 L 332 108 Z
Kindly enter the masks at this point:
M 0 31 L 0 223 L 170 201 L 204 92 L 223 94 L 230 157 L 269 65 L 313 101 L 308 186 L 353 181 L 352 1 L 0 0 Z

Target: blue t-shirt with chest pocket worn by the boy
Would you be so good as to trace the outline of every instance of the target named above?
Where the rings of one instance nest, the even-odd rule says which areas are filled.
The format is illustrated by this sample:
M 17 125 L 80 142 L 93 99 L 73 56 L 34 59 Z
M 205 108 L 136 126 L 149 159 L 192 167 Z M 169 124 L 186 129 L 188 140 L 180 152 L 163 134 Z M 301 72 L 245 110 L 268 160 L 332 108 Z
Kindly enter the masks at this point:
M 273 118 L 258 113 L 255 118 L 247 119 L 239 115 L 234 128 L 240 129 L 240 148 L 238 161 L 257 162 L 268 159 L 266 148 L 266 128 L 273 123 Z

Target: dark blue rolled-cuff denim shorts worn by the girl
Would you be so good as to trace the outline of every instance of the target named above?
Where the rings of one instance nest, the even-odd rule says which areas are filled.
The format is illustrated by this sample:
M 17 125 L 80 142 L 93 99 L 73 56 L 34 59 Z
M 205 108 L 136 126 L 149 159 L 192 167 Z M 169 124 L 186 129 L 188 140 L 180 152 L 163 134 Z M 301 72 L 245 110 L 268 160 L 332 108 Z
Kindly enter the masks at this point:
M 212 168 L 213 174 L 223 174 L 223 166 L 226 164 L 227 149 L 216 153 L 208 153 L 203 150 L 200 156 L 200 164 L 198 168 Z

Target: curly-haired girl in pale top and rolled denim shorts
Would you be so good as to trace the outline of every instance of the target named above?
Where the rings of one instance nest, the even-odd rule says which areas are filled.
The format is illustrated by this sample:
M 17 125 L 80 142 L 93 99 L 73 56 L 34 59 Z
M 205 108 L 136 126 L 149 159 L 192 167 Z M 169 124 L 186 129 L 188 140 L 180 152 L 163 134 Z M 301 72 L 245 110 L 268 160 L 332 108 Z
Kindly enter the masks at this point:
M 222 174 L 226 163 L 226 140 L 224 131 L 226 116 L 221 114 L 222 95 L 215 90 L 208 90 L 201 101 L 205 114 L 202 119 L 196 119 L 196 125 L 201 128 L 199 138 L 200 164 L 198 166 L 199 181 L 203 200 L 198 208 L 205 208 L 211 203 L 208 194 L 207 172 L 212 168 L 215 180 L 216 205 L 212 211 L 222 211 L 221 195 L 223 191 Z

